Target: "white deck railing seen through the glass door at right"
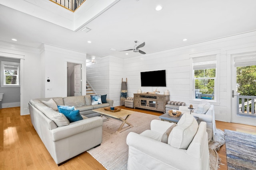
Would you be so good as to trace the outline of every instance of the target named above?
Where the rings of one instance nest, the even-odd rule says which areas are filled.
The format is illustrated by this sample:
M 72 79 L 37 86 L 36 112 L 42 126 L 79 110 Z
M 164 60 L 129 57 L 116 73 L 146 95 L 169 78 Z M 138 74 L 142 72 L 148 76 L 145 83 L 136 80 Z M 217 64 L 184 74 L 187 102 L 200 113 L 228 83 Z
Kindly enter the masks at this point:
M 237 109 L 239 114 L 256 115 L 256 96 L 238 96 Z

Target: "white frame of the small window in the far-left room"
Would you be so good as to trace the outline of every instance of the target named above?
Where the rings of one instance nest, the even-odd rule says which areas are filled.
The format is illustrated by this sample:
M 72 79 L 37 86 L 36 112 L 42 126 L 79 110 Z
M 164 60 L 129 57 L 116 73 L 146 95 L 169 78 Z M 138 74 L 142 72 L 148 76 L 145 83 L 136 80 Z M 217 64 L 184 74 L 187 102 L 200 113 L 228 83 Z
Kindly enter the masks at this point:
M 5 84 L 6 75 L 4 74 L 4 65 L 18 66 L 16 84 Z M 20 87 L 20 63 L 1 61 L 1 87 Z

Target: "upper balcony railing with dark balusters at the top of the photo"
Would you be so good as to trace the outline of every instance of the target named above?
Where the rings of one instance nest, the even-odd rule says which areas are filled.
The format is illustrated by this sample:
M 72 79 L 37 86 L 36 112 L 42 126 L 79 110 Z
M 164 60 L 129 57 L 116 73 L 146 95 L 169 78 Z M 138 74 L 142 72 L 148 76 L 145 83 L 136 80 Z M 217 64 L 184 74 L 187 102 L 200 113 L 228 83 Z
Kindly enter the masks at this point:
M 74 12 L 86 0 L 50 0 L 50 1 Z

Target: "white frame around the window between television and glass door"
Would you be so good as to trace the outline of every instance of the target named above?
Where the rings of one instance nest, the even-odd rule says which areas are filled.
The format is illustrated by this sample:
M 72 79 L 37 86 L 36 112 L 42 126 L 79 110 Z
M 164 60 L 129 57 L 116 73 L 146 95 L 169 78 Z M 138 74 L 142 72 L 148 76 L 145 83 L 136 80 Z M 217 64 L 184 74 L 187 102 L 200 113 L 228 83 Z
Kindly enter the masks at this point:
M 212 104 L 219 104 L 220 103 L 220 50 L 216 51 L 208 51 L 204 53 L 196 53 L 190 54 L 190 102 L 191 103 L 199 103 L 202 99 L 195 98 L 195 81 L 194 81 L 194 69 L 193 69 L 193 59 L 194 58 L 207 58 L 207 56 L 215 56 L 216 57 L 216 73 L 215 73 L 215 80 L 214 80 L 214 100 L 207 100 Z M 201 78 L 199 78 L 201 79 Z M 207 78 L 202 78 L 207 79 Z M 212 79 L 212 78 L 211 78 Z

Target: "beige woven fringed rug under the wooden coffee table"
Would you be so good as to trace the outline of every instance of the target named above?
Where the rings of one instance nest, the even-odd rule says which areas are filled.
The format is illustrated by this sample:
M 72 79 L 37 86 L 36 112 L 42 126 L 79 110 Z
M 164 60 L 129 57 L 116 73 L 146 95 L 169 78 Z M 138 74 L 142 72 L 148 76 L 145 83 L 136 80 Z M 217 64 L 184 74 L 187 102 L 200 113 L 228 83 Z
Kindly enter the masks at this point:
M 94 149 L 90 149 L 87 152 L 107 170 L 127 170 L 128 145 L 126 144 L 126 137 L 128 133 L 142 133 L 146 129 L 150 129 L 150 122 L 153 119 L 159 120 L 159 117 L 147 113 L 136 112 L 128 119 L 128 122 L 134 125 L 134 127 L 118 134 L 115 134 L 115 132 L 122 123 L 121 121 L 115 119 L 104 121 L 102 126 L 103 134 L 101 145 Z M 216 136 L 217 140 L 224 140 L 223 131 L 218 131 L 218 135 Z M 211 146 L 211 148 L 209 148 L 211 170 L 218 170 L 219 159 L 216 150 L 221 146 L 220 141 L 221 140 L 216 141 L 215 143 L 209 143 L 209 146 Z

